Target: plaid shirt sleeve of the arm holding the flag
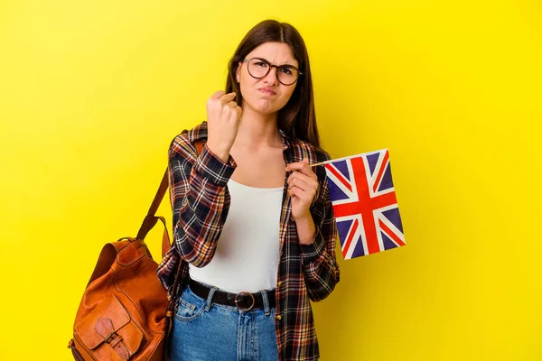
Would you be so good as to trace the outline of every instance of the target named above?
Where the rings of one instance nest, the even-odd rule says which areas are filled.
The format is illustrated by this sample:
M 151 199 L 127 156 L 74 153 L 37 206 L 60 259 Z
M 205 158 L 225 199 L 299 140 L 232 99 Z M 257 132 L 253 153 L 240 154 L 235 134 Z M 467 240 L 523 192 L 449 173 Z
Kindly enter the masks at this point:
M 329 155 L 326 154 L 326 158 L 329 159 Z M 337 224 L 327 177 L 325 173 L 321 177 L 321 190 L 311 210 L 316 227 L 313 244 L 300 245 L 304 280 L 311 301 L 325 299 L 340 281 L 340 269 L 335 256 Z

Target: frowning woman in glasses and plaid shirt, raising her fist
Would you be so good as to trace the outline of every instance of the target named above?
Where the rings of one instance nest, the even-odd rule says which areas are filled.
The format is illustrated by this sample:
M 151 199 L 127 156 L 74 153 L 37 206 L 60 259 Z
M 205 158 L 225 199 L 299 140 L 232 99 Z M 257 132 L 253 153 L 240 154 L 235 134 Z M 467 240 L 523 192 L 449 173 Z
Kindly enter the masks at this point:
M 203 142 L 201 153 L 196 144 Z M 339 282 L 336 225 L 304 41 L 258 23 L 207 121 L 169 150 L 174 246 L 158 275 L 181 287 L 173 360 L 315 360 L 310 301 Z

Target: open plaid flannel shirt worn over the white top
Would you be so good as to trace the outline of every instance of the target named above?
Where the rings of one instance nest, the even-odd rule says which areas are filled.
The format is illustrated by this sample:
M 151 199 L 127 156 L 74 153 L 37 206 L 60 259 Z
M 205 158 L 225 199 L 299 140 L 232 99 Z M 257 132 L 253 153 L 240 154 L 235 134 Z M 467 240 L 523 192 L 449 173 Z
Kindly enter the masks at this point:
M 328 153 L 309 143 L 294 141 L 280 131 L 285 162 L 310 163 L 330 159 Z M 228 216 L 228 180 L 237 164 L 210 153 L 206 145 L 198 156 L 193 142 L 207 139 L 207 123 L 177 135 L 169 149 L 170 198 L 173 208 L 174 242 L 158 267 L 158 277 L 172 291 L 174 272 L 181 262 L 181 289 L 189 281 L 188 263 L 210 263 Z M 316 226 L 312 245 L 298 242 L 291 199 L 285 190 L 280 218 L 280 259 L 276 283 L 276 340 L 279 360 L 315 360 L 320 356 L 310 301 L 326 298 L 339 282 L 335 258 L 336 223 L 323 167 L 313 170 L 320 187 L 310 208 Z

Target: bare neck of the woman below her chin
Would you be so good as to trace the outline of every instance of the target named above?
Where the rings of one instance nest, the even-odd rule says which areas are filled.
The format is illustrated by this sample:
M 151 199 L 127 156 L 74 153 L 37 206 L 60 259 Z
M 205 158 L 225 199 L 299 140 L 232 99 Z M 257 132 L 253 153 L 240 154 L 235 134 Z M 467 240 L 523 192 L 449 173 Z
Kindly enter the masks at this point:
M 239 125 L 235 145 L 242 148 L 259 149 L 281 144 L 277 113 L 263 115 L 246 106 L 241 116 L 241 125 Z

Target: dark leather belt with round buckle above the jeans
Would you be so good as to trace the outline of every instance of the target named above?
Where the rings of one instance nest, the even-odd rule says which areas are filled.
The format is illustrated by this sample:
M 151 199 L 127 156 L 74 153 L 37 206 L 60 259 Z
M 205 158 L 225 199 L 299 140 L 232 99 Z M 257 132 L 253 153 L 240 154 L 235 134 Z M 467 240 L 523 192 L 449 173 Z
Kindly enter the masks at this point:
M 207 299 L 210 288 L 200 282 L 190 279 L 190 289 L 202 299 Z M 269 307 L 275 307 L 275 290 L 266 292 Z M 237 307 L 239 310 L 254 310 L 264 308 L 264 298 L 260 292 L 229 293 L 216 290 L 212 295 L 213 303 Z

